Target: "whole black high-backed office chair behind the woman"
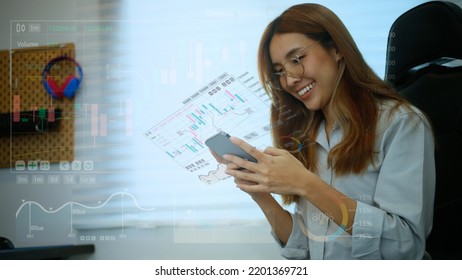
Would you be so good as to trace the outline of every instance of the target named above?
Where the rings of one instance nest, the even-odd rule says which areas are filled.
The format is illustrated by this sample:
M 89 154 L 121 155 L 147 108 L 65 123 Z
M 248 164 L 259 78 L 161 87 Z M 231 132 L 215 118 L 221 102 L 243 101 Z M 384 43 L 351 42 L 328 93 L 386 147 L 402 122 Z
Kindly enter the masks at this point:
M 390 29 L 385 78 L 428 115 L 435 133 L 435 208 L 427 239 L 433 259 L 462 259 L 461 60 L 462 9 L 454 3 L 421 4 Z

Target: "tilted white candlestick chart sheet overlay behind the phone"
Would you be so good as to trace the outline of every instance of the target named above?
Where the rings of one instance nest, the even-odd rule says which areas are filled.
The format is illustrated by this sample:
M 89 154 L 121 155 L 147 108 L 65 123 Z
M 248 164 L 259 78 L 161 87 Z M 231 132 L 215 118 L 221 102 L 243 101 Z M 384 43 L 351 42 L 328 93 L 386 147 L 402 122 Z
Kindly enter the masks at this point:
M 205 140 L 223 130 L 255 146 L 268 145 L 262 137 L 269 132 L 270 104 L 248 72 L 238 77 L 224 73 L 186 98 L 182 108 L 144 135 L 199 180 L 212 184 L 227 176 L 217 170 Z

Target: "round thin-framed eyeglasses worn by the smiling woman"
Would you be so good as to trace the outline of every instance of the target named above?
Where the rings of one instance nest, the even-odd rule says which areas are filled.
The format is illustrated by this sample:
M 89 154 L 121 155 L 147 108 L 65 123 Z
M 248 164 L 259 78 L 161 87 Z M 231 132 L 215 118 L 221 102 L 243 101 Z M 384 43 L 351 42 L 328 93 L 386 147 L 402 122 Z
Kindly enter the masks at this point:
M 271 75 L 270 79 L 266 81 L 266 84 L 275 90 L 283 90 L 287 87 L 287 76 L 291 78 L 301 78 L 305 73 L 302 60 L 305 58 L 308 48 L 314 43 L 316 42 L 300 49 L 294 57 L 290 58 L 282 65 L 281 71 Z

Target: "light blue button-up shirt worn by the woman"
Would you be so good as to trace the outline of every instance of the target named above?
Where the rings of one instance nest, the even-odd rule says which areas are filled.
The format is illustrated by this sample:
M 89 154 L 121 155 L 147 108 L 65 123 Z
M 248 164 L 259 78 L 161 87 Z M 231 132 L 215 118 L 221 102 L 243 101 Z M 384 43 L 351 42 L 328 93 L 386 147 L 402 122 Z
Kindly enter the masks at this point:
M 434 140 L 417 109 L 390 115 L 381 106 L 375 163 L 363 174 L 336 176 L 327 155 L 342 138 L 334 128 L 328 141 L 324 123 L 317 137 L 319 176 L 357 201 L 353 234 L 334 223 L 305 199 L 292 214 L 293 228 L 281 245 L 289 259 L 422 259 L 433 220 L 435 192 Z M 346 225 L 348 210 L 339 202 Z M 273 234 L 274 235 L 274 234 Z M 277 238 L 276 238 L 277 239 Z

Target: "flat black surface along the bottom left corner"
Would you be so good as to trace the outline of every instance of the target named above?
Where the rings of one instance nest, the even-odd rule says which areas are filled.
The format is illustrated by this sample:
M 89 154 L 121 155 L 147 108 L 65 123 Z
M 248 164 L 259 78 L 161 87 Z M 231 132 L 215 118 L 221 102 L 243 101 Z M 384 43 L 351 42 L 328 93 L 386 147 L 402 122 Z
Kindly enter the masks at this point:
M 24 247 L 0 250 L 0 260 L 58 260 L 94 251 L 95 245 L 93 244 Z

